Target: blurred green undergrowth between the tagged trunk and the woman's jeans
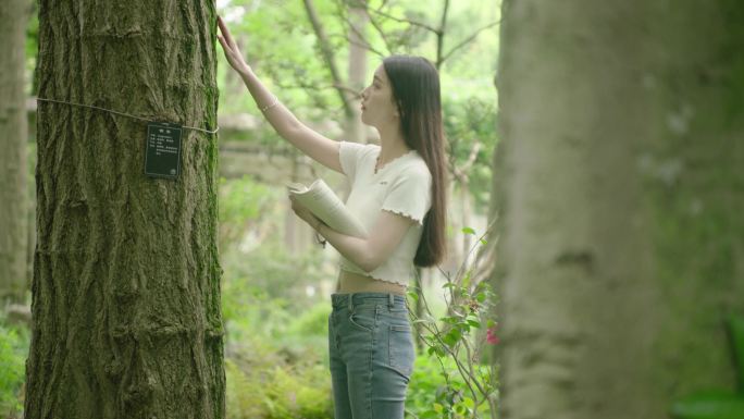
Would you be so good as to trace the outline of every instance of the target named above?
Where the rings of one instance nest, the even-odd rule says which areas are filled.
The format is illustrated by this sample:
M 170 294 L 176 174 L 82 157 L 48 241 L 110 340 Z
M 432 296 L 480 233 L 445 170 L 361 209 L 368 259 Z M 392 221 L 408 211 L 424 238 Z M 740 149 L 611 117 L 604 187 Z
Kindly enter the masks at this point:
M 250 190 L 259 190 L 261 199 L 260 189 Z M 264 204 L 271 207 L 271 198 Z M 231 220 L 245 215 L 226 213 Z M 248 248 L 225 247 L 222 255 L 231 419 L 333 416 L 325 337 L 330 304 L 306 293 L 323 278 L 320 258 L 312 251 L 293 255 L 282 242 L 281 235 L 269 234 Z

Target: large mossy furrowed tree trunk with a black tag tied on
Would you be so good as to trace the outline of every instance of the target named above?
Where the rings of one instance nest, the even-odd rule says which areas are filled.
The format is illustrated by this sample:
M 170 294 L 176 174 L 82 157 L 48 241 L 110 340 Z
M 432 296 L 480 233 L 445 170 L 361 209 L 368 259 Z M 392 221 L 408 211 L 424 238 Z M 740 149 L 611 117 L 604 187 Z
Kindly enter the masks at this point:
M 41 0 L 39 98 L 216 124 L 215 5 Z M 224 418 L 216 136 L 144 174 L 147 123 L 39 103 L 25 418 Z

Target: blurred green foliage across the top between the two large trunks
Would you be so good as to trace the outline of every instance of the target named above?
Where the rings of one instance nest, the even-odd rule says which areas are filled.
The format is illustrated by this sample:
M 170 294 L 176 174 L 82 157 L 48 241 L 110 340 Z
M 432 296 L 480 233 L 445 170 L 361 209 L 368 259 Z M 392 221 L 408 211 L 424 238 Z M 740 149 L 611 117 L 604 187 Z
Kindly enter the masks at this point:
M 345 74 L 348 64 L 350 33 L 348 2 L 339 0 L 313 1 L 318 17 L 335 54 L 336 67 Z M 382 58 L 394 53 L 420 54 L 434 61 L 437 38 L 424 28 L 438 27 L 443 2 L 370 1 L 370 25 L 365 44 L 370 50 L 367 74 L 371 76 Z M 498 52 L 498 26 L 479 28 L 498 21 L 498 4 L 463 0 L 450 4 L 444 33 L 443 53 L 458 48 L 441 69 L 443 101 L 460 106 L 471 98 L 493 100 L 493 75 Z M 232 0 L 222 7 L 233 35 L 237 38 L 249 64 L 266 86 L 301 120 L 343 121 L 338 93 L 320 44 L 314 35 L 302 2 L 257 2 Z M 384 35 L 383 35 L 384 34 Z M 475 35 L 475 36 L 473 36 Z M 492 60 L 484 60 L 491 57 Z M 220 109 L 223 113 L 258 110 L 245 94 L 245 88 L 220 54 L 218 66 Z M 231 78 L 232 77 L 232 78 Z M 360 86 L 351 87 L 359 89 Z M 265 135 L 258 136 L 259 139 Z M 277 140 L 278 138 L 273 138 Z

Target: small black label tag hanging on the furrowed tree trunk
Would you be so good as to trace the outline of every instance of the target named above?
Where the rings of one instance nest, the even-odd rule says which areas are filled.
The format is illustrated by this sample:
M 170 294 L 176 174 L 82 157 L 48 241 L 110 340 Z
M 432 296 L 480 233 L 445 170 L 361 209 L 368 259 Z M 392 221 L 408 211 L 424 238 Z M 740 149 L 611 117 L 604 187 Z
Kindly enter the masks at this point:
M 145 141 L 145 174 L 153 177 L 177 178 L 181 173 L 181 132 L 178 124 L 151 122 L 147 124 Z

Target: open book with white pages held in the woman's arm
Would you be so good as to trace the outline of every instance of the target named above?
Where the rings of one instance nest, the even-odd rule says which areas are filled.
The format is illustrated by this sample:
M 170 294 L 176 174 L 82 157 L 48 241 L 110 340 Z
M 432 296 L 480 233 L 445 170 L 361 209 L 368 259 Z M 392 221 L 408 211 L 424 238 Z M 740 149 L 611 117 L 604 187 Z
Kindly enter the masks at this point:
M 367 237 L 367 229 L 349 212 L 323 180 L 319 178 L 310 186 L 300 183 L 287 183 L 286 186 L 290 195 L 331 229 L 349 236 Z

